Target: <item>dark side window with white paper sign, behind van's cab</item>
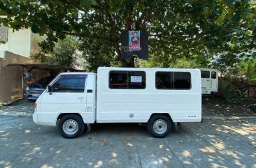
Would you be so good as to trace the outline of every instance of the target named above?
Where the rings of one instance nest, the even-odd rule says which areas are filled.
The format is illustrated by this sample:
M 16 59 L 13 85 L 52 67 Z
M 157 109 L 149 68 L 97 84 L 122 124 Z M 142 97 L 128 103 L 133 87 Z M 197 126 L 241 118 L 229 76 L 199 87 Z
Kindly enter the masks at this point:
M 109 72 L 110 89 L 145 89 L 145 72 L 111 70 Z

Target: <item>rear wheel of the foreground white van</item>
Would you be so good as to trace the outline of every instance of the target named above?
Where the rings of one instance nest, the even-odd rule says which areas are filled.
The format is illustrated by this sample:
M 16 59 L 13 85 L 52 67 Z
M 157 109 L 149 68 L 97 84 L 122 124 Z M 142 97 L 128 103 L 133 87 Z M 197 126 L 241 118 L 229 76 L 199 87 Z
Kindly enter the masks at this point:
M 157 122 L 157 123 L 155 123 Z M 155 124 L 155 128 L 154 128 Z M 163 138 L 171 132 L 172 124 L 168 116 L 157 114 L 151 116 L 148 121 L 148 132 L 153 137 Z M 158 130 L 158 131 L 157 131 Z M 162 131 L 161 131 L 162 130 Z

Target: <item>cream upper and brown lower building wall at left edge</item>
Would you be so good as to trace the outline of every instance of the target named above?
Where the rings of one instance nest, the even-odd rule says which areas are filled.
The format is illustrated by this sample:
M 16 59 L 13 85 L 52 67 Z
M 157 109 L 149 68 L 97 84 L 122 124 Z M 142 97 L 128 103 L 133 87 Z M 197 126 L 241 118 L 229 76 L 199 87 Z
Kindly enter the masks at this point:
M 2 102 L 23 97 L 22 74 L 26 70 L 22 67 L 6 67 L 6 65 L 8 63 L 34 63 L 29 57 L 40 51 L 38 42 L 43 37 L 31 33 L 30 29 L 13 32 L 13 29 L 3 24 L 0 26 L 0 38 L 6 42 L 0 43 L 0 102 Z M 24 89 L 29 83 L 49 75 L 45 70 L 31 70 L 30 73 L 31 77 L 25 81 Z

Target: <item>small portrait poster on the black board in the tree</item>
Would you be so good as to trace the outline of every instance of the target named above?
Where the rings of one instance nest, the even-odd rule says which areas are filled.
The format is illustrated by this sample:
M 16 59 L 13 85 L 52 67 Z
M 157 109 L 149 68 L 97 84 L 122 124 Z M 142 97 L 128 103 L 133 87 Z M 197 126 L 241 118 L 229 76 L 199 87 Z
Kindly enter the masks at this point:
M 129 31 L 129 51 L 141 50 L 141 32 L 140 31 Z

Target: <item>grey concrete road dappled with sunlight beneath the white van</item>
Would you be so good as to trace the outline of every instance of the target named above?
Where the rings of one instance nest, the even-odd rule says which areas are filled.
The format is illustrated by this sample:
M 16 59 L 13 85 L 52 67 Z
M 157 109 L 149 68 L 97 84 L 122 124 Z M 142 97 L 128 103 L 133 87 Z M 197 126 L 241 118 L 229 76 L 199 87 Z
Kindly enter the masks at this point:
M 64 139 L 31 117 L 0 123 L 0 167 L 256 167 L 255 120 L 183 123 L 164 139 L 136 124 L 98 124 Z

